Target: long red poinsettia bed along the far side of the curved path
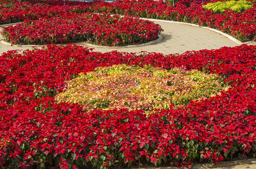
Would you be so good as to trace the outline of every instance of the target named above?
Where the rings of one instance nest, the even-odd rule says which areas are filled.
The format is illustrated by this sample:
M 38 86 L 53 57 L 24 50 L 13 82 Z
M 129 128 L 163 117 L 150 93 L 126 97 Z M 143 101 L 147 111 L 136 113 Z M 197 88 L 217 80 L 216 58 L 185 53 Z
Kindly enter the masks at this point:
M 203 1 L 214 3 L 218 0 Z M 0 12 L 0 24 L 13 23 L 24 19 L 38 19 L 40 16 L 55 16 L 67 12 L 107 12 L 110 14 L 132 15 L 147 18 L 174 20 L 186 23 L 194 23 L 201 26 L 209 26 L 210 28 L 219 29 L 220 31 L 230 34 L 242 42 L 256 40 L 256 1 L 248 0 L 253 7 L 244 12 L 237 13 L 233 10 L 225 10 L 222 14 L 214 14 L 211 10 L 203 10 L 202 1 L 181 0 L 176 6 L 168 6 L 162 1 L 153 0 L 136 0 L 136 1 L 116 1 L 112 3 L 94 2 L 79 3 L 68 2 L 63 6 L 62 1 L 38 1 L 40 3 L 27 2 L 8 3 L 0 1 L 4 4 L 3 12 Z M 11 4 L 12 2 L 10 2 Z M 7 5 L 7 7 L 6 7 Z M 47 6 L 47 7 L 46 7 Z M 2 10 L 1 10 L 2 11 Z

